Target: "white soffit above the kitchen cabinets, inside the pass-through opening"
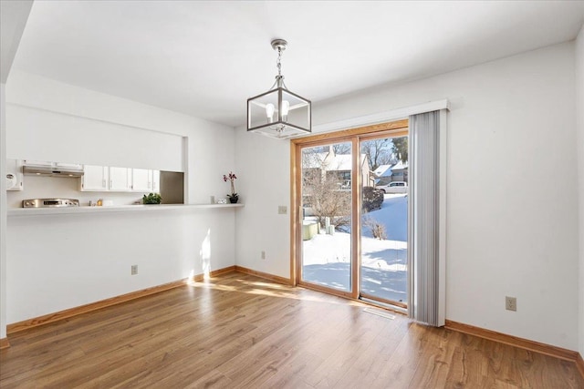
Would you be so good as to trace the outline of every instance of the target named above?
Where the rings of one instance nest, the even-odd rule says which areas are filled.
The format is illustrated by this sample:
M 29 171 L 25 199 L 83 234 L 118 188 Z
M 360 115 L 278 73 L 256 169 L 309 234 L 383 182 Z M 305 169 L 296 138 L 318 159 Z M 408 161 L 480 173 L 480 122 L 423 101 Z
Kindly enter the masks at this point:
M 15 104 L 6 111 L 10 159 L 184 171 L 180 135 Z

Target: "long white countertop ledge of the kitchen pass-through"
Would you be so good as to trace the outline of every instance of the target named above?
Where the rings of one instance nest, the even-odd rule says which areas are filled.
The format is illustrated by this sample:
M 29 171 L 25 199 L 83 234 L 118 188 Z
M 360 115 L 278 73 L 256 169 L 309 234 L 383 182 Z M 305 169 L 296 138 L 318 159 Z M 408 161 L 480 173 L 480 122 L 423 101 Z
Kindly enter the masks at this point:
M 55 208 L 14 208 L 7 210 L 8 216 L 38 216 L 80 213 L 108 212 L 151 212 L 160 210 L 192 210 L 213 208 L 242 208 L 244 204 L 151 204 L 115 205 L 108 207 L 55 207 Z

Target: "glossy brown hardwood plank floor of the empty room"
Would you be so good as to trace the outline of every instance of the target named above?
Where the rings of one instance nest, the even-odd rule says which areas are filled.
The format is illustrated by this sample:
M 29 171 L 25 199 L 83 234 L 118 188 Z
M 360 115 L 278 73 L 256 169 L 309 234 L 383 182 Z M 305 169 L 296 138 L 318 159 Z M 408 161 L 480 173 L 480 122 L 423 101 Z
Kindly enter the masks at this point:
M 574 363 L 233 272 L 9 336 L 0 387 L 584 388 Z

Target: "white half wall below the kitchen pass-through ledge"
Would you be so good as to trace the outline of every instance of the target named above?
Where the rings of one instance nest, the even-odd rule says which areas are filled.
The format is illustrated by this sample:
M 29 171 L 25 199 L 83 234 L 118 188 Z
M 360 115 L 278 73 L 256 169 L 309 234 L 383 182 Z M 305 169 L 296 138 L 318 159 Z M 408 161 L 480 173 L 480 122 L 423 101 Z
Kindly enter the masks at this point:
M 7 322 L 233 266 L 234 225 L 233 209 L 9 216 Z

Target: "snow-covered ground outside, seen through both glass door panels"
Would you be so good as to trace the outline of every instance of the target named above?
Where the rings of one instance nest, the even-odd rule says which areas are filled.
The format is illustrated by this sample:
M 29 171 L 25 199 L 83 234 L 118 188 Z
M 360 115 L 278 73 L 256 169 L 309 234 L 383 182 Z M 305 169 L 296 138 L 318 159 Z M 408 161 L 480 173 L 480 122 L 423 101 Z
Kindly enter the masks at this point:
M 361 236 L 361 292 L 396 302 L 406 302 L 408 199 L 386 194 L 381 210 L 364 216 L 385 226 L 387 240 L 373 238 L 364 228 Z M 350 234 L 316 235 L 303 244 L 304 280 L 343 291 L 350 286 Z

